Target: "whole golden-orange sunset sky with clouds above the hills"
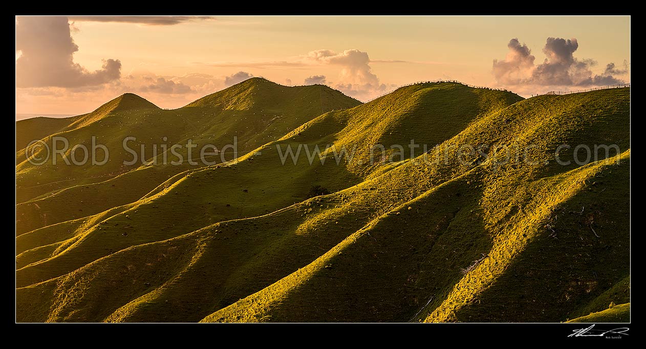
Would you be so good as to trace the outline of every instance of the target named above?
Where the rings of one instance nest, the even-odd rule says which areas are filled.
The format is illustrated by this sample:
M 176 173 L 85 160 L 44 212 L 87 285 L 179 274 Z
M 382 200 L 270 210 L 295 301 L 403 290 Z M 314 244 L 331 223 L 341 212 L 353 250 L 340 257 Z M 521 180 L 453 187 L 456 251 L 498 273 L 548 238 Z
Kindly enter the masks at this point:
M 124 92 L 176 108 L 250 76 L 362 101 L 435 79 L 521 96 L 629 83 L 630 17 L 16 17 L 16 113 Z

